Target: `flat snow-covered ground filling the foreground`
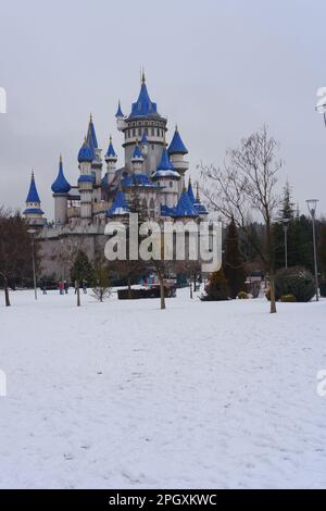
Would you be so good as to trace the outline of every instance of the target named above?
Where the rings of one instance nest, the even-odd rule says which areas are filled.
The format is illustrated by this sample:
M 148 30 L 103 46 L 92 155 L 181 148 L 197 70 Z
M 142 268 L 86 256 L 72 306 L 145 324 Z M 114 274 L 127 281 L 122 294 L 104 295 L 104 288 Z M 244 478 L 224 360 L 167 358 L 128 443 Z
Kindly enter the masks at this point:
M 11 299 L 2 488 L 326 487 L 325 300 Z

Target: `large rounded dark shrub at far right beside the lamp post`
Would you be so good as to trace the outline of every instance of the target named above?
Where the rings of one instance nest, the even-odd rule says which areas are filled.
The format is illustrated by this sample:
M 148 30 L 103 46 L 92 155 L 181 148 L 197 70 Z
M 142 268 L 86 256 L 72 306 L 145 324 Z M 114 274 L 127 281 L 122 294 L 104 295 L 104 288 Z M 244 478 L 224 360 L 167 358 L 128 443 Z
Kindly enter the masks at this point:
M 275 275 L 275 296 L 279 300 L 285 295 L 293 295 L 299 302 L 310 301 L 315 295 L 313 275 L 303 266 L 278 270 Z

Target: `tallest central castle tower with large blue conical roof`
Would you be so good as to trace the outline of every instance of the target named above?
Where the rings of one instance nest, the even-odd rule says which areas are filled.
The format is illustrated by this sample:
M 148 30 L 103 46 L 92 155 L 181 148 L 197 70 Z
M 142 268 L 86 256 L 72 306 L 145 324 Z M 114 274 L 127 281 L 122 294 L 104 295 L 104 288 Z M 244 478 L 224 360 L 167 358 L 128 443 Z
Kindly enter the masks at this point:
M 121 110 L 121 109 L 120 109 Z M 166 119 L 158 112 L 156 103 L 151 101 L 148 94 L 145 74 L 142 73 L 140 92 L 138 99 L 131 104 L 131 112 L 128 117 L 122 117 L 122 112 L 117 112 L 117 127 L 124 134 L 125 166 L 131 171 L 131 158 L 137 140 L 141 140 L 146 135 L 148 140 L 147 154 L 143 162 L 143 172 L 150 175 L 158 166 L 163 147 L 165 147 Z

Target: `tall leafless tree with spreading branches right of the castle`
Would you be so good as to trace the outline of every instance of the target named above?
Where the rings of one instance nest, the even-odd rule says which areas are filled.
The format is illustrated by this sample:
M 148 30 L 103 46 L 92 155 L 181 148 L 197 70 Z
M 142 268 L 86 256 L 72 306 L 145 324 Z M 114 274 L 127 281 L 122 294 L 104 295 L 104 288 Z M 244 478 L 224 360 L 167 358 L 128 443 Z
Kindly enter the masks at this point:
M 260 254 L 269 276 L 271 313 L 276 312 L 274 282 L 274 248 L 272 222 L 280 197 L 276 192 L 281 161 L 277 159 L 278 144 L 269 137 L 267 127 L 242 139 L 237 149 L 228 150 L 222 169 L 202 166 L 202 190 L 210 205 L 241 227 Z M 247 219 L 250 210 L 259 212 L 265 225 L 265 247 L 252 236 Z

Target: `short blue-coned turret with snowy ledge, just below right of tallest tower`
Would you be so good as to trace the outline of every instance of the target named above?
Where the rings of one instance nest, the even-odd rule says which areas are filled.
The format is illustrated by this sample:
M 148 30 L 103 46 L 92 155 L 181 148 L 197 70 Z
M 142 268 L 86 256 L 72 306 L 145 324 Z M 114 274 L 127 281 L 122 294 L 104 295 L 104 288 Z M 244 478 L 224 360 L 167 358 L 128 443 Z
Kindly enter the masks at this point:
M 175 171 L 171 163 L 166 148 L 162 151 L 161 161 L 156 172 L 152 174 L 152 179 L 162 187 L 161 205 L 165 207 L 163 211 L 168 213 L 168 210 L 175 208 L 178 201 L 178 182 L 180 180 L 180 174 Z

